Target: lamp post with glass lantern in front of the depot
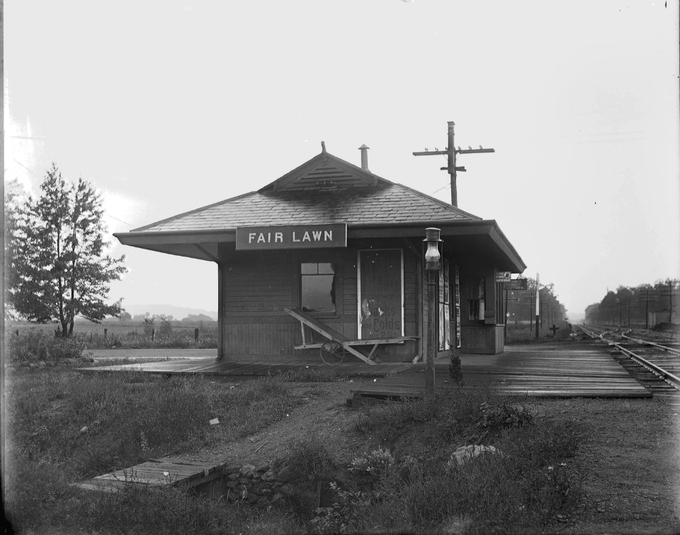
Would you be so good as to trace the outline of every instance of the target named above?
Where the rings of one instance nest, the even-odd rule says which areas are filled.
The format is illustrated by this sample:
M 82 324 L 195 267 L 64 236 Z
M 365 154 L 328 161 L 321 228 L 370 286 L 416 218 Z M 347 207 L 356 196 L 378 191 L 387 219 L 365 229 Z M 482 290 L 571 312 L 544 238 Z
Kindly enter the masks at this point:
M 434 412 L 434 359 L 437 351 L 437 281 L 441 269 L 441 242 L 438 228 L 426 228 L 425 271 L 427 273 L 427 352 L 425 359 L 425 402 L 431 413 Z

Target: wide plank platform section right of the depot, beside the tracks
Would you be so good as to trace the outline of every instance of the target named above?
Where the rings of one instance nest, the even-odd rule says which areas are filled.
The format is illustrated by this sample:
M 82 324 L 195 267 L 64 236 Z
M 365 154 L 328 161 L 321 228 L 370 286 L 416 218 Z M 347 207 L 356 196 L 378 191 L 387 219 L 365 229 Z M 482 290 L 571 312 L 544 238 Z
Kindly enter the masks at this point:
M 552 398 L 650 398 L 652 393 L 623 369 L 606 347 L 591 342 L 556 342 L 506 347 L 498 355 L 462 355 L 467 388 L 489 385 L 506 395 Z M 424 393 L 424 364 L 352 390 L 361 398 L 418 398 Z M 448 362 L 435 366 L 436 388 L 451 388 Z

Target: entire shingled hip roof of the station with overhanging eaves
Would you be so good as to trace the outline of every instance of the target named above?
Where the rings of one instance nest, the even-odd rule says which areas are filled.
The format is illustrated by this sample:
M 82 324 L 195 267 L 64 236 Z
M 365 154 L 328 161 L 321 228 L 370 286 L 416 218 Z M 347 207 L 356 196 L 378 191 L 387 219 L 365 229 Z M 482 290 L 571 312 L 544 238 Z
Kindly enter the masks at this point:
M 449 232 L 454 232 L 451 225 L 460 225 L 466 230 L 455 232 L 493 234 L 494 242 L 512 257 L 512 267 L 523 266 L 495 221 L 482 220 L 326 152 L 259 191 L 174 215 L 115 237 L 133 247 L 217 261 L 217 243 L 232 242 L 237 227 L 330 223 L 346 223 L 348 231 L 436 224 L 446 225 Z

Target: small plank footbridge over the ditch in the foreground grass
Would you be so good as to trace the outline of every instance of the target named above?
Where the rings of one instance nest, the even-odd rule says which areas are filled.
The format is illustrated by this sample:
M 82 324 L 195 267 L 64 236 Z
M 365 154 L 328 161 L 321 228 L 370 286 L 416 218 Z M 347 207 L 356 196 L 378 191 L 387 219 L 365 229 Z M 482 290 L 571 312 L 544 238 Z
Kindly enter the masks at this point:
M 197 461 L 187 458 L 162 457 L 149 459 L 146 463 L 117 470 L 112 473 L 98 475 L 79 483 L 72 483 L 73 487 L 83 490 L 99 490 L 102 492 L 118 492 L 125 485 L 179 485 L 185 488 L 196 487 L 219 478 L 226 463 L 215 461 Z

